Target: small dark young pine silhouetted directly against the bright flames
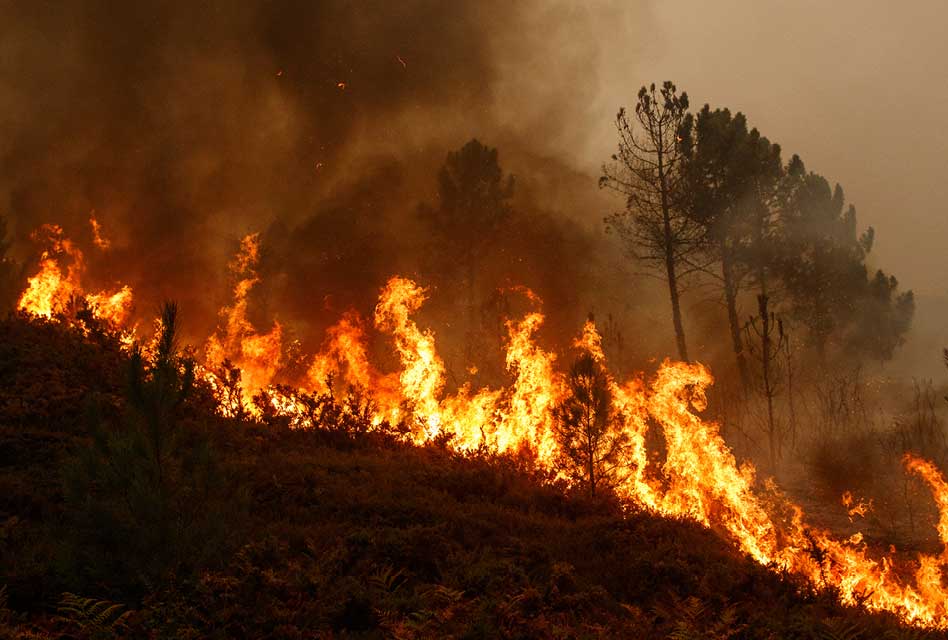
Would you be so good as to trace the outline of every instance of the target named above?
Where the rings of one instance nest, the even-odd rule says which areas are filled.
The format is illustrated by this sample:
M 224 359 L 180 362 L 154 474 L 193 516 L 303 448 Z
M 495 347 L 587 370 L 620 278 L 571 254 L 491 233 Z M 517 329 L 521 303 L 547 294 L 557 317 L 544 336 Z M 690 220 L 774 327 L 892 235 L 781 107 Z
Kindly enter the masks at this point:
M 628 437 L 619 428 L 602 363 L 583 352 L 567 376 L 569 393 L 553 413 L 560 466 L 595 496 L 612 486 Z

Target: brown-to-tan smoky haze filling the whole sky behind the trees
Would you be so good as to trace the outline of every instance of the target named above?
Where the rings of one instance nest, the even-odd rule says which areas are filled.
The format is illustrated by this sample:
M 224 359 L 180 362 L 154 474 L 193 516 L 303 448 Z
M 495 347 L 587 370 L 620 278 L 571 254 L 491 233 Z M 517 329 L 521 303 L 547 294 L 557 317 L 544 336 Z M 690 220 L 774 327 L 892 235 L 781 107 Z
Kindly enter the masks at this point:
M 371 305 L 391 273 L 423 267 L 416 206 L 433 198 L 445 153 L 476 136 L 517 175 L 519 206 L 552 212 L 545 245 L 522 238 L 552 325 L 635 310 L 629 332 L 654 333 L 667 312 L 603 234 L 617 203 L 595 178 L 617 107 L 673 79 L 694 105 L 744 111 L 787 157 L 840 182 L 877 229 L 874 263 L 941 294 L 946 13 L 855 1 L 5 2 L 0 211 L 26 258 L 41 222 L 91 241 L 94 210 L 113 240 L 96 277 L 130 283 L 142 313 L 178 298 L 195 335 L 226 299 L 227 256 L 260 230 L 259 313 L 318 335 Z M 562 255 L 546 255 L 553 246 Z

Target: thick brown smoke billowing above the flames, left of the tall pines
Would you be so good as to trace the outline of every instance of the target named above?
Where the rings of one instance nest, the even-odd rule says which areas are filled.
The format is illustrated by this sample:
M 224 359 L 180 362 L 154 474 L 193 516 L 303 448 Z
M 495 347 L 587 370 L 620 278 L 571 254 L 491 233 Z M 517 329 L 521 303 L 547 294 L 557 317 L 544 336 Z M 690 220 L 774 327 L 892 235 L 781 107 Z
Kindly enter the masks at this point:
M 614 110 L 603 116 L 596 98 L 604 59 L 635 49 L 602 44 L 638 31 L 624 3 L 0 13 L 0 212 L 14 250 L 34 256 L 43 222 L 91 248 L 94 212 L 112 247 L 87 251 L 89 277 L 130 284 L 143 317 L 175 298 L 202 339 L 227 300 L 230 253 L 263 231 L 256 320 L 318 341 L 347 308 L 371 309 L 389 275 L 424 269 L 417 205 L 434 199 L 446 153 L 475 136 L 500 149 L 531 221 L 507 239 L 526 264 L 497 277 L 538 287 L 564 331 L 625 304 L 631 278 L 602 287 L 618 268 L 603 264 L 621 262 L 600 237 L 615 203 L 596 190 L 598 160 L 580 160 L 587 123 Z

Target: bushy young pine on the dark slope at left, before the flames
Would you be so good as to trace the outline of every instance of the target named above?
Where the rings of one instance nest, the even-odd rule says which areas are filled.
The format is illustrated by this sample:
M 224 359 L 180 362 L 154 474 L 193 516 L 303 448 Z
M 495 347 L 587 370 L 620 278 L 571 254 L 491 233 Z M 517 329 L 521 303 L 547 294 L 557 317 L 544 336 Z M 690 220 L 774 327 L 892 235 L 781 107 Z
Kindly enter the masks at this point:
M 120 419 L 91 407 L 93 441 L 65 470 L 80 580 L 147 582 L 219 551 L 224 484 L 207 440 L 183 419 L 194 365 L 177 354 L 176 324 L 168 304 L 154 354 L 131 357 Z

